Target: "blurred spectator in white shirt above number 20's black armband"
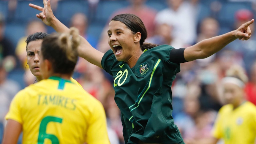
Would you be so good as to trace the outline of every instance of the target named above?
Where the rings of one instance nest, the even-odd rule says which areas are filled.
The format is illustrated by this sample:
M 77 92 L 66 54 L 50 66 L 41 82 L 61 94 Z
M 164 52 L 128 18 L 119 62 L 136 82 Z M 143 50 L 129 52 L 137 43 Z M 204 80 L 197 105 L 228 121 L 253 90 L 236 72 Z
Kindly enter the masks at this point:
M 167 0 L 169 8 L 157 13 L 155 23 L 167 23 L 173 26 L 173 38 L 181 42 L 172 45 L 174 48 L 183 48 L 192 45 L 196 39 L 197 0 Z

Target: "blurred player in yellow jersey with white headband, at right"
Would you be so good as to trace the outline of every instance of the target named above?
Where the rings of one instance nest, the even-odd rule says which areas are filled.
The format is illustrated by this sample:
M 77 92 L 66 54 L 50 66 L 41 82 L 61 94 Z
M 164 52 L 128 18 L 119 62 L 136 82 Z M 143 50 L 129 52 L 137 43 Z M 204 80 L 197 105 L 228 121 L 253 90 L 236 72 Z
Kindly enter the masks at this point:
M 223 139 L 225 144 L 255 144 L 256 106 L 246 101 L 244 86 L 248 78 L 241 67 L 231 67 L 222 79 L 224 105 L 213 128 L 213 143 Z

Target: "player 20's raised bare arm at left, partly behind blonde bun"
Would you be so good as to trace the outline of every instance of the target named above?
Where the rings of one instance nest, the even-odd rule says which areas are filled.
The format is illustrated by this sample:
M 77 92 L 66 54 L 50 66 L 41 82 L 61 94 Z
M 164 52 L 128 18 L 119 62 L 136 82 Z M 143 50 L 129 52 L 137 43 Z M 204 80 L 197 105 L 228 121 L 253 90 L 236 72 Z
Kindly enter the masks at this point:
M 41 19 L 46 25 L 53 27 L 55 31 L 59 33 L 68 32 L 69 28 L 61 23 L 54 15 L 51 9 L 50 0 L 43 0 L 44 7 L 40 7 L 34 4 L 29 4 L 30 7 L 37 9 L 40 12 L 37 14 L 37 18 Z M 86 59 L 90 63 L 102 68 L 101 60 L 104 53 L 93 48 L 85 38 L 81 37 L 81 43 L 78 47 L 78 54 L 80 57 Z

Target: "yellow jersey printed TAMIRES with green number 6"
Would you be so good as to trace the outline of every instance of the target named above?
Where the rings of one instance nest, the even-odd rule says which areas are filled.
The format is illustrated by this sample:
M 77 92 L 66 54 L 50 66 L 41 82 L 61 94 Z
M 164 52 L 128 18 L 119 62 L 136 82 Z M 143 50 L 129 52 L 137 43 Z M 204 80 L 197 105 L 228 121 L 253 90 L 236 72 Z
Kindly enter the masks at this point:
M 6 119 L 22 124 L 23 144 L 110 144 L 102 104 L 60 77 L 19 91 Z

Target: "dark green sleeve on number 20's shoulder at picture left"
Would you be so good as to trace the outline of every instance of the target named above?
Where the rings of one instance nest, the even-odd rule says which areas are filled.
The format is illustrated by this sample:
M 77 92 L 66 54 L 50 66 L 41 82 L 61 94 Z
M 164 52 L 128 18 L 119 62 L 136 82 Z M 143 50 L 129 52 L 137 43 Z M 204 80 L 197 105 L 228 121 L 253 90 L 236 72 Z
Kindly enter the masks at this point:
M 115 55 L 114 55 L 113 51 L 112 51 L 112 50 L 108 50 L 108 51 L 104 54 L 104 56 L 102 57 L 102 60 L 101 60 L 101 66 L 102 66 L 102 68 L 103 68 L 106 72 L 108 72 L 110 75 L 112 75 L 111 72 L 110 72 L 110 70 L 111 70 L 111 68 L 113 67 L 114 59 L 115 59 Z

